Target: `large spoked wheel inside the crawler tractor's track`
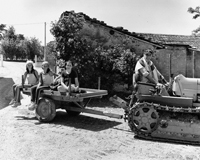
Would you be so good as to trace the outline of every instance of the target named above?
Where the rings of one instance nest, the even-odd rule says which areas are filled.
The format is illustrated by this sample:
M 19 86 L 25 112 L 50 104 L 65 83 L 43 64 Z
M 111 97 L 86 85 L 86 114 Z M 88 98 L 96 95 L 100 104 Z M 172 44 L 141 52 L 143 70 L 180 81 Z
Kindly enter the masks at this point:
M 154 109 L 153 105 L 139 103 L 130 110 L 128 125 L 136 134 L 149 134 L 157 128 L 158 119 L 158 112 Z

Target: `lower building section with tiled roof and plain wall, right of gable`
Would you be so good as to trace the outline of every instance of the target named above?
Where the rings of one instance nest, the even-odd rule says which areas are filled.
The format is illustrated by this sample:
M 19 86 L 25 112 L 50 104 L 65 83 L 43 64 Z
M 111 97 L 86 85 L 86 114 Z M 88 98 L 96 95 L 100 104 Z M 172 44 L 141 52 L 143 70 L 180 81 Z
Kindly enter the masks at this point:
M 138 34 L 165 45 L 164 49 L 157 50 L 154 60 L 165 77 L 172 73 L 200 78 L 200 36 Z

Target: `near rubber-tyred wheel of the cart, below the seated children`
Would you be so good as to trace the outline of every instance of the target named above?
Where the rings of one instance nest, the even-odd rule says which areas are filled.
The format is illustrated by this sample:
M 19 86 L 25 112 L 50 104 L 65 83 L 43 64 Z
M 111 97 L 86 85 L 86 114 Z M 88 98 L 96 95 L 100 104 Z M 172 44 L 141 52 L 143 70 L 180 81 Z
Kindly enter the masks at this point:
M 50 122 L 56 116 L 55 103 L 46 98 L 42 98 L 35 110 L 36 117 L 40 122 Z

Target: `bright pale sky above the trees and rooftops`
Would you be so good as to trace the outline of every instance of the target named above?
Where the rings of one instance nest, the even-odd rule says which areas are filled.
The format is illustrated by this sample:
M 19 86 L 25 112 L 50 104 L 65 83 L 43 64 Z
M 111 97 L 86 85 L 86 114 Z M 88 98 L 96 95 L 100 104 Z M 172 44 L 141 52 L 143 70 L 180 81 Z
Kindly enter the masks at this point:
M 191 35 L 200 18 L 193 19 L 187 10 L 197 6 L 199 0 L 0 0 L 0 24 L 42 45 L 54 40 L 51 22 L 72 10 L 130 32 Z

